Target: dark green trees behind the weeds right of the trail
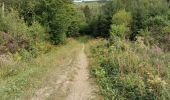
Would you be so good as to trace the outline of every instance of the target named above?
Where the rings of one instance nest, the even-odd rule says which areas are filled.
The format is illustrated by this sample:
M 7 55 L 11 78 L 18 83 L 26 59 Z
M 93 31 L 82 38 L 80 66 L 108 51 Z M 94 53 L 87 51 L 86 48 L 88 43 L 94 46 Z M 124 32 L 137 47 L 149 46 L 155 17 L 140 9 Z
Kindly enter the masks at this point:
M 90 9 L 90 11 L 93 10 Z M 124 23 L 117 20 L 119 17 L 130 22 L 128 25 L 122 25 Z M 89 17 L 88 19 L 91 20 Z M 159 42 L 161 46 L 165 44 L 168 37 L 169 20 L 170 3 L 168 0 L 111 0 L 100 8 L 98 17 L 90 21 L 89 26 L 91 27 L 89 27 L 88 33 L 108 38 L 110 37 L 111 24 L 114 24 L 114 26 L 112 25 L 114 29 L 126 26 L 128 28 L 128 32 L 125 32 L 126 39 L 133 41 L 137 36 L 147 35 L 157 43 Z M 164 47 L 170 47 L 168 43 Z

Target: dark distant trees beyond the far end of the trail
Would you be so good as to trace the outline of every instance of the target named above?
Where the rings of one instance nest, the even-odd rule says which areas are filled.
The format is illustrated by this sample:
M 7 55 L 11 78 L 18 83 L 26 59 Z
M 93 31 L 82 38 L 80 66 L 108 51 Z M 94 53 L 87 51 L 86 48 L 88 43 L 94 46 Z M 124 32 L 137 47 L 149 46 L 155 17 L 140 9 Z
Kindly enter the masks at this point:
M 103 22 L 102 6 L 105 2 L 83 2 L 78 4 L 78 9 L 85 16 L 86 25 L 81 29 L 81 33 L 85 33 L 91 36 L 103 36 L 107 37 L 105 32 L 105 23 Z

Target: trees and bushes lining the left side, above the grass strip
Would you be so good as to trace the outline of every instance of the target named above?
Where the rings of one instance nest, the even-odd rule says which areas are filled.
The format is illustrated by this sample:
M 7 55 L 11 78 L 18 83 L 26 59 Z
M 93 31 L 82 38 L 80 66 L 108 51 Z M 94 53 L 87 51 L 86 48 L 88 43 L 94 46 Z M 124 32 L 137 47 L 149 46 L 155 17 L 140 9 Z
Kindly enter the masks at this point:
M 67 37 L 78 36 L 83 25 L 83 15 L 72 0 L 0 0 L 0 4 L 2 54 L 43 51 L 48 49 L 45 42 L 63 44 Z

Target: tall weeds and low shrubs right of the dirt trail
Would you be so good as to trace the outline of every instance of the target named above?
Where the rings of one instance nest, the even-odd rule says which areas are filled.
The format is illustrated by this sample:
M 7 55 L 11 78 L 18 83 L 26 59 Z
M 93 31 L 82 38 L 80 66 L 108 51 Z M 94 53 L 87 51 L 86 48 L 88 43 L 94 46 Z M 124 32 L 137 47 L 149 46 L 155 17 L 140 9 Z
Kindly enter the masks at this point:
M 110 46 L 108 46 L 110 45 Z M 169 96 L 168 53 L 118 39 L 92 46 L 92 74 L 105 99 L 162 100 Z M 162 57 L 165 58 L 162 58 Z M 157 60 L 156 60 L 157 59 Z

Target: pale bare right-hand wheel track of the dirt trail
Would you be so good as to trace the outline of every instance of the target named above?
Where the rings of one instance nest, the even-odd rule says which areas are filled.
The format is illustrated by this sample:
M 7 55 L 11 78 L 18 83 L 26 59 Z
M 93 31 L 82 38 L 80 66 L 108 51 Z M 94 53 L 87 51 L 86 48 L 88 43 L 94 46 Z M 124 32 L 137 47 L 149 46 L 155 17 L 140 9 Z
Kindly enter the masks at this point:
M 84 45 L 78 56 L 78 70 L 73 86 L 67 100 L 90 100 L 92 99 L 92 87 L 88 81 L 88 60 L 84 53 Z

